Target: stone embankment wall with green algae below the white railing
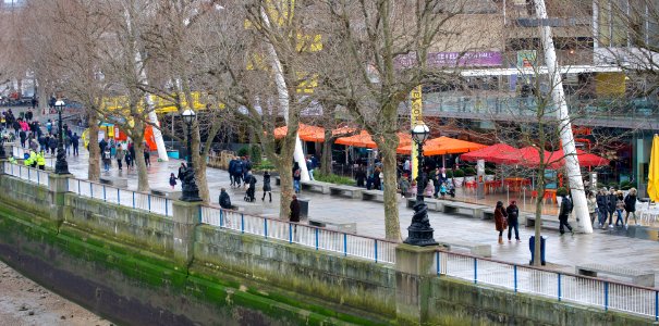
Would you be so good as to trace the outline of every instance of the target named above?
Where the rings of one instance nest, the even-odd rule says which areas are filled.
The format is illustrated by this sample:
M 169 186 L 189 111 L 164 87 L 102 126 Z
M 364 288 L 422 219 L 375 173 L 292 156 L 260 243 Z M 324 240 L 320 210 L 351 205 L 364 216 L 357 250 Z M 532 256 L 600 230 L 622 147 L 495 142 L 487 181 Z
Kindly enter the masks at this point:
M 648 325 L 651 321 L 437 277 L 432 249 L 383 265 L 0 175 L 0 259 L 133 325 Z

